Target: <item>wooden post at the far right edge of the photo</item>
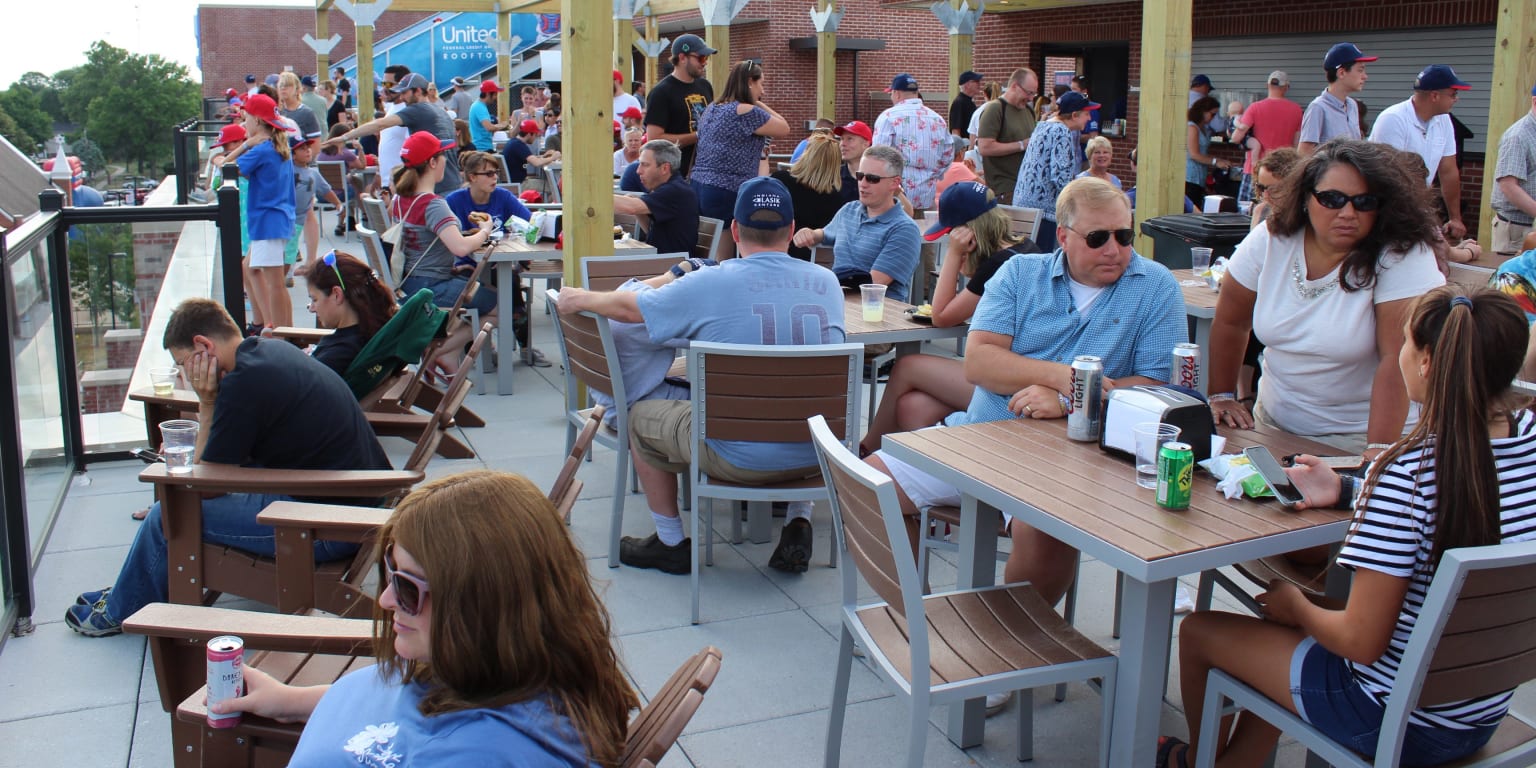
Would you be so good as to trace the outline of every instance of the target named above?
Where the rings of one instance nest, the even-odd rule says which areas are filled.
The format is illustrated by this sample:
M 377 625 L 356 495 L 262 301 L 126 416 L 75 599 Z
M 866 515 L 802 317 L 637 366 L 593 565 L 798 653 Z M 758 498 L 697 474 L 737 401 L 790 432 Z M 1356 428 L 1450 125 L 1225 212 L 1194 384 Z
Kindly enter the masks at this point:
M 1499 0 L 1498 26 L 1493 43 L 1493 83 L 1488 92 L 1487 151 L 1482 161 L 1482 215 L 1478 217 L 1478 241 L 1493 243 L 1493 169 L 1499 161 L 1499 137 L 1530 108 L 1531 84 L 1536 84 L 1536 3 L 1530 0 Z

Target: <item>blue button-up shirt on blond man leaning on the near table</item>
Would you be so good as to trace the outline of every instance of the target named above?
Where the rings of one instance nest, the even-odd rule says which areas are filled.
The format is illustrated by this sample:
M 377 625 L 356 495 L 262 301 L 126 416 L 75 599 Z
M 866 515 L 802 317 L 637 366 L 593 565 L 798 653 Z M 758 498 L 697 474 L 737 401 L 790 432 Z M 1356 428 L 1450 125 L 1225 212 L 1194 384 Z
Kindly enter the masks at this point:
M 1189 341 L 1184 293 L 1167 267 L 1132 253 L 1126 272 L 1084 316 L 1072 301 L 1061 249 L 1008 260 L 988 281 L 971 330 L 1012 336 L 1012 352 L 1026 358 L 1071 364 L 1077 355 L 1098 355 L 1109 378 L 1155 381 L 1167 381 L 1174 344 Z M 945 424 L 1011 419 L 1012 395 L 975 387 L 971 407 Z

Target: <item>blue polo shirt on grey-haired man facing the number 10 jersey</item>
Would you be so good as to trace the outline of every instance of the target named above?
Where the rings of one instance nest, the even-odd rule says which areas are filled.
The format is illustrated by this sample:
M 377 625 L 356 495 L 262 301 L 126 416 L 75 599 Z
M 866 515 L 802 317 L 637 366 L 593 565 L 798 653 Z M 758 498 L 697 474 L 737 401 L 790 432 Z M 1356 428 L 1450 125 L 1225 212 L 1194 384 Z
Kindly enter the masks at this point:
M 833 246 L 833 269 L 848 272 L 885 272 L 891 275 L 886 295 L 906 301 L 912 272 L 923 247 L 922 232 L 902 206 L 869 218 L 860 201 L 843 204 L 833 221 L 822 229 L 822 244 Z

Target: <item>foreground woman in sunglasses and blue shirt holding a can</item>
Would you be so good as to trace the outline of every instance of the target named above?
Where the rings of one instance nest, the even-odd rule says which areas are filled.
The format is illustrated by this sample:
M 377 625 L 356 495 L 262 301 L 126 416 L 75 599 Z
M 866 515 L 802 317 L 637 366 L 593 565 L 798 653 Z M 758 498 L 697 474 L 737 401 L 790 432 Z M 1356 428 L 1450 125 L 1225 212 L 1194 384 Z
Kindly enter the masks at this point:
M 416 487 L 378 535 L 378 665 L 214 707 L 304 722 L 289 765 L 616 765 L 634 691 L 587 564 L 527 478 Z

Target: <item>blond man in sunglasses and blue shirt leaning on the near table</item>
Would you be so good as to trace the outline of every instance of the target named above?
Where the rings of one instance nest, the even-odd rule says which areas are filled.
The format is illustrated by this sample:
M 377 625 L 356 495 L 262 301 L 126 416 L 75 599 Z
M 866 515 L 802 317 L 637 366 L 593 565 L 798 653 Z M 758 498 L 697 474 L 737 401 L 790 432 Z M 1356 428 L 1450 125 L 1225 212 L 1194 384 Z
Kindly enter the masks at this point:
M 1174 344 L 1189 341 L 1184 298 L 1161 264 L 1130 249 L 1130 203 L 1097 178 L 1080 178 L 1057 198 L 1060 247 L 1020 253 L 986 283 L 966 336 L 971 407 L 946 425 L 1011 418 L 1066 416 L 1077 355 L 1104 361 L 1104 389 L 1166 382 Z M 897 482 L 908 528 L 922 507 L 960 505 L 952 485 L 876 452 L 869 465 Z M 1077 550 L 1012 521 L 1008 582 L 1029 581 L 1055 602 L 1072 584 Z

